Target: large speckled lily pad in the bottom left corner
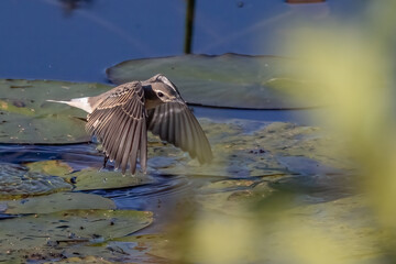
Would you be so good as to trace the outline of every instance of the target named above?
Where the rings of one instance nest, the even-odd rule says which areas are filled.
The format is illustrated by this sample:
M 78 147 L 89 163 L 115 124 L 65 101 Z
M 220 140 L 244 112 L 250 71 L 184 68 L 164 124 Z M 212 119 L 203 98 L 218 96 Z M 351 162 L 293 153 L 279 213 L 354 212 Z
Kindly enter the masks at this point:
M 152 212 L 133 210 L 68 210 L 2 220 L 0 261 L 35 254 L 51 261 L 64 249 L 124 237 L 152 221 Z

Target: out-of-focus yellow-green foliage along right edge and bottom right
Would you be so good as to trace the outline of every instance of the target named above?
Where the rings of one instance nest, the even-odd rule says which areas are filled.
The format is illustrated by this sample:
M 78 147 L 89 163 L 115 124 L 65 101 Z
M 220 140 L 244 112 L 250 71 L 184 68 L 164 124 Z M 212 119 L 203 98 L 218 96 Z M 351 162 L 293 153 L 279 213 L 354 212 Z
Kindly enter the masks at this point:
M 373 1 L 356 20 L 295 25 L 283 46 L 304 62 L 296 76 L 317 84 L 307 90 L 314 89 L 317 100 L 328 107 L 315 118 L 355 158 L 356 186 L 370 199 L 358 198 L 364 205 L 353 199 L 343 205 L 340 199 L 304 216 L 267 218 L 258 210 L 252 219 L 202 212 L 187 234 L 194 240 L 189 254 L 195 255 L 188 261 L 393 262 L 386 258 L 396 239 L 396 15 L 389 10 L 396 10 L 396 1 Z M 318 213 L 324 217 L 316 219 Z

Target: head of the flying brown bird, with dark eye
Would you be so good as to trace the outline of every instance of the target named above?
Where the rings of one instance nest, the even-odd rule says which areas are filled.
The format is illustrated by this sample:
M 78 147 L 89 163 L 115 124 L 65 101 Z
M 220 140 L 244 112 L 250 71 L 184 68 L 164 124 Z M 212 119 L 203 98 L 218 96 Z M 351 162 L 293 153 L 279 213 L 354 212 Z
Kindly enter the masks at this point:
M 176 86 L 163 74 L 157 74 L 150 79 L 151 86 L 157 98 L 163 102 L 183 101 Z

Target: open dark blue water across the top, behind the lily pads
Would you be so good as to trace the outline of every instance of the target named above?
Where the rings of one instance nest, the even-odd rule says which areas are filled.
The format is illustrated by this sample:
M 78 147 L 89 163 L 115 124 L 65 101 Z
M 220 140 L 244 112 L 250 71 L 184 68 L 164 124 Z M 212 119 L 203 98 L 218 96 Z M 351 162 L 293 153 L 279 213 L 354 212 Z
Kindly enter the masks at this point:
M 184 0 L 1 0 L 0 78 L 101 82 L 105 69 L 122 61 L 180 55 L 186 7 Z M 285 56 L 278 47 L 294 21 L 354 18 L 362 7 L 197 0 L 191 51 Z

